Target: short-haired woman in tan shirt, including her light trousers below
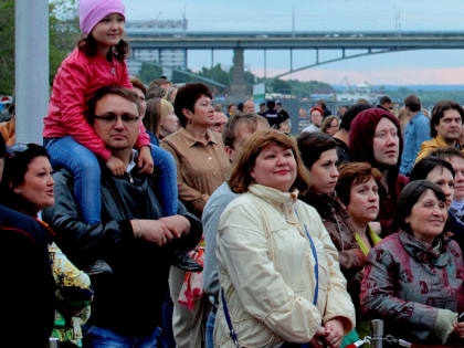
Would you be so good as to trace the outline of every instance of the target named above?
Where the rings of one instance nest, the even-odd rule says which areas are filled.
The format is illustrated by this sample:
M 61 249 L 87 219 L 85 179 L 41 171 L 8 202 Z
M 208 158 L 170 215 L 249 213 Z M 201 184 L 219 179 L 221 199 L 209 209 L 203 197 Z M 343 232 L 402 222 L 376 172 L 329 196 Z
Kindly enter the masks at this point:
M 162 139 L 161 148 L 171 152 L 176 160 L 179 199 L 190 212 L 201 218 L 210 194 L 225 181 L 230 169 L 221 135 L 210 129 L 215 122 L 210 89 L 203 84 L 187 84 L 180 87 L 176 96 L 175 112 L 181 128 Z M 196 260 L 200 263 L 203 262 L 203 250 L 201 243 L 196 254 Z M 188 294 L 193 298 L 192 309 L 179 304 L 184 278 L 184 272 L 171 268 L 169 287 L 175 303 L 172 330 L 179 347 L 200 347 L 210 303 L 203 296 L 200 286 Z M 186 284 L 186 287 L 191 289 L 191 283 Z

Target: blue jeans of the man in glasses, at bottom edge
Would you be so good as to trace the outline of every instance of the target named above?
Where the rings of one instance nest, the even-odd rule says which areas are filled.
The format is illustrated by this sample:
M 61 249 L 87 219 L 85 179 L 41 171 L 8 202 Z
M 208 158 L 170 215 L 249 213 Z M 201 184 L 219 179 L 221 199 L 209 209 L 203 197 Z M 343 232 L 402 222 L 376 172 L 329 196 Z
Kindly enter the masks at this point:
M 125 336 L 108 328 L 83 326 L 85 348 L 157 348 L 161 334 L 159 327 L 147 336 Z

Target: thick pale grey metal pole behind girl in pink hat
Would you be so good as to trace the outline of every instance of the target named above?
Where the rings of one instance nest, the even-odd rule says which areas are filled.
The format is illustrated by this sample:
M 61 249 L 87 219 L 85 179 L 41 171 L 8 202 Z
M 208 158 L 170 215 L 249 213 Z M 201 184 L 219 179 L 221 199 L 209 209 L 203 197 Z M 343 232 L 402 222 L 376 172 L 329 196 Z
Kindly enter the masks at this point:
M 17 143 L 42 144 L 49 107 L 49 1 L 15 0 Z

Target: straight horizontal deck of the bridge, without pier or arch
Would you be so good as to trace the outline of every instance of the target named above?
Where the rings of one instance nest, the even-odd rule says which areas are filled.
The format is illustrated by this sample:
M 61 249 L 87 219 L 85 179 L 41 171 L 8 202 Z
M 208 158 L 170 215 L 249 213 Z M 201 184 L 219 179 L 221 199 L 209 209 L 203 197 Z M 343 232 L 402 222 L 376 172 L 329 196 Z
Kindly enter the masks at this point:
M 464 49 L 464 32 L 199 32 L 128 31 L 134 49 L 305 50 Z

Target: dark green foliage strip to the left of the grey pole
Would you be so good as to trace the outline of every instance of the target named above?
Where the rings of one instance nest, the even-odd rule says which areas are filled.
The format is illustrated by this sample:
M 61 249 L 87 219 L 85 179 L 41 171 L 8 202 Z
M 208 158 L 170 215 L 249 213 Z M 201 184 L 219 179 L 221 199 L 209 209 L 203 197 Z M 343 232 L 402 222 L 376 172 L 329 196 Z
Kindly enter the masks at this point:
M 0 94 L 14 89 L 14 0 L 0 1 Z

